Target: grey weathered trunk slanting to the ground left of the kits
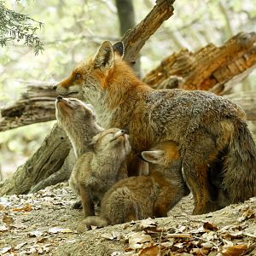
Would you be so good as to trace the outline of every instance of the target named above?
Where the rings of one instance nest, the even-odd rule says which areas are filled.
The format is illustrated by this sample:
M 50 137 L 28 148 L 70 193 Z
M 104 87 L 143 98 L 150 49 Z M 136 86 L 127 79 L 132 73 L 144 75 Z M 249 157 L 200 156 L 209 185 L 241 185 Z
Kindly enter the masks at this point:
M 0 188 L 0 195 L 24 194 L 29 192 L 33 186 L 57 172 L 61 168 L 66 168 L 63 172 L 72 171 L 63 166 L 69 154 L 71 143 L 65 131 L 55 125 L 49 135 L 44 139 L 44 143 L 26 160 L 23 166 L 18 167 L 13 177 L 9 177 Z

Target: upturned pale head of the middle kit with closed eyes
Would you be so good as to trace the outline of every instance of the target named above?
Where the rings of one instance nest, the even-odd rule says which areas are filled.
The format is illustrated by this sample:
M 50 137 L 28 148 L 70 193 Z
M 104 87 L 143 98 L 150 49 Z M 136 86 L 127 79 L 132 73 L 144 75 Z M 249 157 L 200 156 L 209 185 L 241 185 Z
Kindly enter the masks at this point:
M 126 131 L 110 128 L 92 138 L 90 148 L 96 155 L 105 159 L 121 158 L 131 152 L 129 136 Z

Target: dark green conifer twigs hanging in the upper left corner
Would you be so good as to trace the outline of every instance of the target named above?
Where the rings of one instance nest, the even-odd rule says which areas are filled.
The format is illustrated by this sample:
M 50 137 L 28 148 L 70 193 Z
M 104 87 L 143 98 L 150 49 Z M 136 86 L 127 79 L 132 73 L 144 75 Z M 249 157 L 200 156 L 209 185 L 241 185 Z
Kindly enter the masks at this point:
M 3 1 L 0 1 L 0 25 L 2 47 L 8 42 L 23 42 L 29 47 L 34 47 L 35 55 L 44 49 L 37 36 L 38 28 L 41 28 L 43 23 L 6 8 Z

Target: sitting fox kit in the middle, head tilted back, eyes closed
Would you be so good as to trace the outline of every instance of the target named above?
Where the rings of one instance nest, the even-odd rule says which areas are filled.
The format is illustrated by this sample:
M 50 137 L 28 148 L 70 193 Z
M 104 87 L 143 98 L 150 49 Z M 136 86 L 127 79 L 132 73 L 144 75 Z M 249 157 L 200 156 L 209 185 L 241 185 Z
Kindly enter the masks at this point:
M 126 157 L 131 152 L 128 135 L 118 128 L 102 131 L 92 138 L 90 152 L 82 154 L 73 167 L 69 183 L 81 196 L 84 215 L 95 215 L 94 202 L 127 177 Z

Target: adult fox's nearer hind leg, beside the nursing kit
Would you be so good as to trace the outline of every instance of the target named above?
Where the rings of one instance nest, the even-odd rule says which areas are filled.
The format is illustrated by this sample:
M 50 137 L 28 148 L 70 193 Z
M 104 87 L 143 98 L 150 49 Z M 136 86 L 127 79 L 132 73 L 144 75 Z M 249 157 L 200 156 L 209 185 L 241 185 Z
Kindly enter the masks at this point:
M 212 201 L 215 192 L 208 178 L 208 164 L 216 160 L 218 149 L 209 134 L 205 136 L 203 132 L 195 131 L 193 139 L 183 148 L 183 177 L 194 197 L 194 214 L 219 208 L 217 202 Z

